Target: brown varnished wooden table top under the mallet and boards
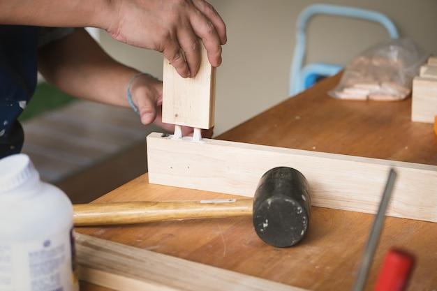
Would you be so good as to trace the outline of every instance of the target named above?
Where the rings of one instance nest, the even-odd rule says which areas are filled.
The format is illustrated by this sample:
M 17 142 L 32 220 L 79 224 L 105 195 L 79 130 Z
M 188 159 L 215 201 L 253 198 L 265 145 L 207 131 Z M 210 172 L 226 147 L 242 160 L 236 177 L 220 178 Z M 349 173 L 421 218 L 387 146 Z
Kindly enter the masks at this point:
M 410 99 L 392 103 L 335 100 L 327 91 L 338 81 L 339 76 L 323 80 L 218 139 L 437 165 L 432 125 L 410 122 Z M 148 184 L 145 174 L 96 201 L 218 197 L 231 196 Z M 350 290 L 373 215 L 320 207 L 312 211 L 309 235 L 292 248 L 264 244 L 249 217 L 76 231 L 308 290 Z M 436 241 L 437 223 L 387 218 L 366 290 L 372 290 L 383 256 L 392 246 L 416 255 L 408 290 L 437 289 Z M 108 289 L 82 283 L 81 290 Z

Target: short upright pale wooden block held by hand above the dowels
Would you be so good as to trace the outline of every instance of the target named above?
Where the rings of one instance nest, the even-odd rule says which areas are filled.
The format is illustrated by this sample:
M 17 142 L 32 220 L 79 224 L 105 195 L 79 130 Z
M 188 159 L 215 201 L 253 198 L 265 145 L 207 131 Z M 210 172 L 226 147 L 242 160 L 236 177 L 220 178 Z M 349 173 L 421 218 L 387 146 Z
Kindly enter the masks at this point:
M 200 68 L 193 78 L 184 79 L 168 59 L 163 70 L 163 122 L 212 128 L 214 126 L 216 68 L 209 64 L 207 51 L 202 47 Z

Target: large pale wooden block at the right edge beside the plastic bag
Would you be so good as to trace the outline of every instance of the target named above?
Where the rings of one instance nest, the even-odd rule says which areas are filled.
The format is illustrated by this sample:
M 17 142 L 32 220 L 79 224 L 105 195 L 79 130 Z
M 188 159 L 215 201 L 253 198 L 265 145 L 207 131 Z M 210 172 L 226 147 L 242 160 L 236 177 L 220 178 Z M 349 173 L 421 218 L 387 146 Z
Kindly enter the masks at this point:
M 437 115 L 437 80 L 415 77 L 411 120 L 432 124 Z

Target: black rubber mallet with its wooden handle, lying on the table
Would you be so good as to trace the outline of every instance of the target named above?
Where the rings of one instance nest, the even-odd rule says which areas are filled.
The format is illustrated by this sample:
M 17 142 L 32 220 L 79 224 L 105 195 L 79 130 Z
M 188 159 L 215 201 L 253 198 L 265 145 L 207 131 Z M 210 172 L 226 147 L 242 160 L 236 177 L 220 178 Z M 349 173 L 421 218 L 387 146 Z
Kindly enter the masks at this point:
M 253 216 L 258 237 L 269 245 L 286 247 L 304 238 L 311 197 L 302 173 L 275 167 L 262 175 L 253 200 L 90 203 L 75 204 L 73 209 L 75 226 Z

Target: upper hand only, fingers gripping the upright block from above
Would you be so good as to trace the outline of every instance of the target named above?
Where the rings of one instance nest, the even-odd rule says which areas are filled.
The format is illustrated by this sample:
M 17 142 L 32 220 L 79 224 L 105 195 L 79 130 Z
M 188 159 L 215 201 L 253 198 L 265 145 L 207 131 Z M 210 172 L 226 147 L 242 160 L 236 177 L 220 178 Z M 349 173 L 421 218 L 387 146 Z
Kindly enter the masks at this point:
M 113 1 L 114 17 L 105 29 L 123 43 L 163 52 L 182 77 L 194 77 L 200 66 L 200 43 L 209 63 L 221 64 L 226 27 L 204 0 Z

